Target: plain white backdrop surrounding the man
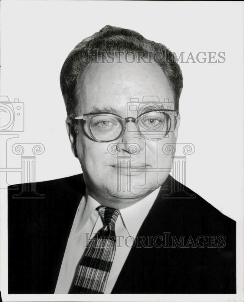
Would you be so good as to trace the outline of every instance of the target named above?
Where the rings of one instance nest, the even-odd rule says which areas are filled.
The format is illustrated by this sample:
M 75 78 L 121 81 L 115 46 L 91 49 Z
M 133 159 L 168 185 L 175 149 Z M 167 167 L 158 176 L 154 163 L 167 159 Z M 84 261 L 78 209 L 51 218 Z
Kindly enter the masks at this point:
M 186 57 L 225 52 L 223 64 L 180 63 L 184 88 L 178 142 L 196 148 L 187 156 L 186 185 L 236 220 L 242 238 L 242 2 L 2 1 L 1 95 L 19 98 L 25 106 L 25 130 L 11 143 L 45 146 L 36 159 L 36 181 L 81 172 L 65 129 L 60 69 L 77 43 L 107 24 L 138 31 Z M 11 148 L 7 152 L 8 167 L 20 167 L 20 156 Z M 20 181 L 19 173 L 8 175 L 9 184 Z M 242 251 L 241 242 L 238 247 Z M 238 274 L 241 286 L 241 267 Z M 240 292 L 233 297 L 241 300 Z

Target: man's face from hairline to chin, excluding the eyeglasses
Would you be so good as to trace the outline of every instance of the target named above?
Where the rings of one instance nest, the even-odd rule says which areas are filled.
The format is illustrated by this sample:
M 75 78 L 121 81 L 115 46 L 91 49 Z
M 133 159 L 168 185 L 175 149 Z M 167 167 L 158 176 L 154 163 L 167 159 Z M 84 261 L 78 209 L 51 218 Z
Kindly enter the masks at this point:
M 77 85 L 76 116 L 99 109 L 112 110 L 123 118 L 136 118 L 136 111 L 127 111 L 131 98 L 142 101 L 144 96 L 158 96 L 161 102 L 164 99 L 173 102 L 174 99 L 168 81 L 156 63 L 117 63 L 116 60 L 114 63 L 93 63 L 83 84 Z M 148 140 L 138 135 L 133 122 L 127 126 L 119 139 L 97 142 L 89 137 L 87 122 L 78 120 L 79 133 L 76 140 L 71 138 L 87 189 L 104 206 L 128 207 L 158 188 L 171 169 L 172 154 L 164 154 L 162 147 L 165 143 L 176 142 L 177 127 L 161 140 Z M 131 145 L 136 145 L 136 153 L 129 148 Z M 117 146 L 119 152 L 111 152 L 112 146 Z M 128 161 L 132 169 L 128 168 Z M 138 168 L 137 172 L 133 172 Z M 153 168 L 164 168 L 164 172 L 150 172 Z

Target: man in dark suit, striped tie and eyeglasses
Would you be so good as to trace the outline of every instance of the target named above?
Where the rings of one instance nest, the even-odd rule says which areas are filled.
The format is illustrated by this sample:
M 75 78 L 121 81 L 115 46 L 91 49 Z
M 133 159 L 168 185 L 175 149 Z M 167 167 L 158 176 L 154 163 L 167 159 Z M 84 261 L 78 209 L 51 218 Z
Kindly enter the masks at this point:
M 9 187 L 9 293 L 236 293 L 236 223 L 169 175 L 183 87 L 171 51 L 105 26 L 60 84 L 83 174 Z

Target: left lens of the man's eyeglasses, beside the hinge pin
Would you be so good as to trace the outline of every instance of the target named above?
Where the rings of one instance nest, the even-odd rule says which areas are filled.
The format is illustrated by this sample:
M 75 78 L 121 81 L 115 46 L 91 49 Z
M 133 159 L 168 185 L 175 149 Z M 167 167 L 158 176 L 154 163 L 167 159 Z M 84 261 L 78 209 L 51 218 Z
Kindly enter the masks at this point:
M 90 120 L 90 131 L 99 141 L 115 140 L 123 129 L 122 121 L 110 114 L 95 115 Z

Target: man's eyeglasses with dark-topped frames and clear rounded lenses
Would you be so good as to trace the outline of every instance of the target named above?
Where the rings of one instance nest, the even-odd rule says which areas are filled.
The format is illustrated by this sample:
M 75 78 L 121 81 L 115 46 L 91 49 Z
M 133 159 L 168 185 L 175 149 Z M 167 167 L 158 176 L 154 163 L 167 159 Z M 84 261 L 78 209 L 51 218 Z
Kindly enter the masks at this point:
M 102 112 L 83 114 L 74 119 L 86 121 L 90 136 L 97 142 L 110 142 L 122 137 L 129 122 L 135 124 L 140 136 L 158 140 L 164 138 L 169 131 L 174 131 L 177 114 L 175 110 L 156 110 L 144 112 L 137 118 L 123 118 L 117 114 Z M 135 130 L 127 127 L 127 131 Z

